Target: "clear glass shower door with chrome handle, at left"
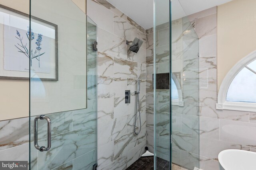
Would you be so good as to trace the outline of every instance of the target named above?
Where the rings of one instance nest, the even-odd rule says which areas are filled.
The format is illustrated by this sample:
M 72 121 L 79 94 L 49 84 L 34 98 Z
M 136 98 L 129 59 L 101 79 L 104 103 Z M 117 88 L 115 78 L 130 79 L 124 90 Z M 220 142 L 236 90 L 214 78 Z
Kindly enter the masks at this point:
M 31 0 L 30 170 L 97 163 L 97 25 L 86 1 Z

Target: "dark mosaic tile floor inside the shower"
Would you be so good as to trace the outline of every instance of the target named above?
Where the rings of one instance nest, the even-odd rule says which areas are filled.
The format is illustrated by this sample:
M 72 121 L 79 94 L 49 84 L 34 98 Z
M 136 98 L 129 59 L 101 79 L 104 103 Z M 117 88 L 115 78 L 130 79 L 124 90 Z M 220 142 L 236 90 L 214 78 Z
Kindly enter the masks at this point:
M 156 158 L 157 170 L 169 170 L 169 161 Z M 154 170 L 154 156 L 140 157 L 126 170 Z

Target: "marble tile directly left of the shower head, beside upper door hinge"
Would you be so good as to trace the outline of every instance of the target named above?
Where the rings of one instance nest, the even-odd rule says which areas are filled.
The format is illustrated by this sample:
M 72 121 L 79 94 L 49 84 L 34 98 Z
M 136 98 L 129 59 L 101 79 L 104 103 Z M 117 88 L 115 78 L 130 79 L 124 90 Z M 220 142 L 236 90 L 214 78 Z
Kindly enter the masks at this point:
M 127 59 L 126 40 L 98 28 L 98 51 Z

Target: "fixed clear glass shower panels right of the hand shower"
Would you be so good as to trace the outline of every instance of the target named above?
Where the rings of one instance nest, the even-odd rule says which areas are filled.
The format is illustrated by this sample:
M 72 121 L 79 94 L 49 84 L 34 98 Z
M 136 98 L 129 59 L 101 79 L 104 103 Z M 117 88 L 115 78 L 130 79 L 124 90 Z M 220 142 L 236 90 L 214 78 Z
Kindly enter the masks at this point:
M 199 39 L 179 0 L 154 0 L 155 167 L 200 168 Z

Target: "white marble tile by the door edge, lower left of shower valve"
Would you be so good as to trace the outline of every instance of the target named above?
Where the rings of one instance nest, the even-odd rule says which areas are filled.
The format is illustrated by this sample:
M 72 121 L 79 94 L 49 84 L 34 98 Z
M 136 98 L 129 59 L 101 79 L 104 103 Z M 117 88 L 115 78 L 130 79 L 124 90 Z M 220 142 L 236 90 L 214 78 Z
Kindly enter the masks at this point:
M 114 119 L 114 98 L 98 99 L 98 123 Z

